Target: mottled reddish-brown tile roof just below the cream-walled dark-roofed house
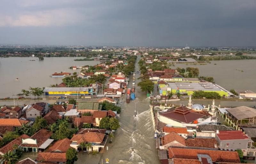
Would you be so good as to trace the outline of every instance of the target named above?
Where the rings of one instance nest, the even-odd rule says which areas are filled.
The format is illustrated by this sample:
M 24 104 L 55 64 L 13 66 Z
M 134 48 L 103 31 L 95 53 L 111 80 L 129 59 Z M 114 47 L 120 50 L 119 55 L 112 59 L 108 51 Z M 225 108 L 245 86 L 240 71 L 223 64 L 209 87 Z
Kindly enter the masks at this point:
M 195 139 L 187 139 L 186 145 L 189 147 L 216 148 L 217 142 L 216 142 L 216 139 L 195 138 Z

